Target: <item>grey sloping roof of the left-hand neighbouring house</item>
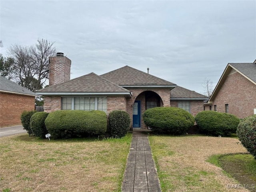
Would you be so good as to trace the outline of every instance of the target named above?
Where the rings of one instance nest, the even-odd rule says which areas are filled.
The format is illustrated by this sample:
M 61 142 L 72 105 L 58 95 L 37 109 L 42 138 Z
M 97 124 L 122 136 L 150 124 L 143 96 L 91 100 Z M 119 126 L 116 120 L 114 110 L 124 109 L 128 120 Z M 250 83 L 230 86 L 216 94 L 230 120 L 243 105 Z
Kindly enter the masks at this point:
M 36 94 L 6 78 L 0 76 L 0 92 L 36 96 Z

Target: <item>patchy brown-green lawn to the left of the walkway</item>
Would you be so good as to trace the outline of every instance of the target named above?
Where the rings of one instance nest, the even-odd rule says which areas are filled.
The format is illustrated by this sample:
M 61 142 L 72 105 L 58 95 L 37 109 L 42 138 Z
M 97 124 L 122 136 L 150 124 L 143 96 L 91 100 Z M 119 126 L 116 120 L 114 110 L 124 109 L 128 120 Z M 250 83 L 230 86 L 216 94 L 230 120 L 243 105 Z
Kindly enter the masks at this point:
M 131 138 L 0 138 L 0 190 L 120 191 Z

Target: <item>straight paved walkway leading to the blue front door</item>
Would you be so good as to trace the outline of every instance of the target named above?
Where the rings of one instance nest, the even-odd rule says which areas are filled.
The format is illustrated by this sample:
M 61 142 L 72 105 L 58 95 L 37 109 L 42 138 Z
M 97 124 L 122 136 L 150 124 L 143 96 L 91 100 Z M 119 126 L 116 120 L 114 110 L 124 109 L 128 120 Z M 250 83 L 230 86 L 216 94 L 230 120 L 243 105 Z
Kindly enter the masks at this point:
M 146 132 L 133 131 L 122 192 L 161 192 Z

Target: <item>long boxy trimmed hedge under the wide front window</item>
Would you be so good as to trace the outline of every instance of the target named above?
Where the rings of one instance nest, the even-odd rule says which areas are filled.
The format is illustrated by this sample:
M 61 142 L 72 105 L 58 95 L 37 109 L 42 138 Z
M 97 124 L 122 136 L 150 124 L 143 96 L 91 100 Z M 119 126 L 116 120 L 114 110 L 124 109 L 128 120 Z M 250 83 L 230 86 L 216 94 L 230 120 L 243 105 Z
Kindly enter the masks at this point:
M 45 126 L 52 138 L 101 135 L 107 130 L 107 116 L 99 110 L 58 110 L 47 116 Z

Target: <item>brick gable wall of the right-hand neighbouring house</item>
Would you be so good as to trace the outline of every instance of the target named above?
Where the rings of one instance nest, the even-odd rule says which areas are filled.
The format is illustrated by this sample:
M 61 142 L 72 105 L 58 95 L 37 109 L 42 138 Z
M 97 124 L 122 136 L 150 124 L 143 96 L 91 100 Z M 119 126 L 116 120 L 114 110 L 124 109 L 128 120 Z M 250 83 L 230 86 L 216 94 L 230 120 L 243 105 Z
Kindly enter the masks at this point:
M 225 112 L 225 104 L 228 104 L 228 112 L 238 118 L 253 115 L 256 108 L 256 85 L 238 72 L 228 75 L 212 106 L 217 105 L 218 112 Z

